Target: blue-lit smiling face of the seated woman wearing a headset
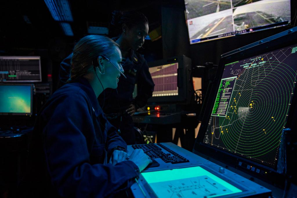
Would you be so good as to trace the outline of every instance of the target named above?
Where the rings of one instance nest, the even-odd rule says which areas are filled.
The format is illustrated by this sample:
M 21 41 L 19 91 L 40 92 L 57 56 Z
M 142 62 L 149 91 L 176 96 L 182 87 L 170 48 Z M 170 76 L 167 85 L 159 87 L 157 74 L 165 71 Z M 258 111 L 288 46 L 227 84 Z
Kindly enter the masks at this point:
M 115 89 L 118 87 L 120 77 L 119 70 L 124 73 L 124 69 L 121 66 L 122 54 L 119 47 L 115 47 L 114 53 L 110 56 L 109 61 L 107 61 L 107 66 L 105 67 L 105 87 Z

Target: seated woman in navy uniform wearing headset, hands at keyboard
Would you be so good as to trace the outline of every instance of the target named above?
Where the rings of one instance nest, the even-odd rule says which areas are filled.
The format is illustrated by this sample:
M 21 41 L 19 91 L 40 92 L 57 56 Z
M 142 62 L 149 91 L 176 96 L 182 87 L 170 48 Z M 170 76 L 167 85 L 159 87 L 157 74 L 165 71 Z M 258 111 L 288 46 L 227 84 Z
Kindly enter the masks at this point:
M 74 47 L 71 78 L 42 108 L 29 151 L 26 196 L 112 197 L 132 185 L 151 159 L 127 144 L 102 112 L 97 97 L 117 88 L 121 51 L 96 35 Z

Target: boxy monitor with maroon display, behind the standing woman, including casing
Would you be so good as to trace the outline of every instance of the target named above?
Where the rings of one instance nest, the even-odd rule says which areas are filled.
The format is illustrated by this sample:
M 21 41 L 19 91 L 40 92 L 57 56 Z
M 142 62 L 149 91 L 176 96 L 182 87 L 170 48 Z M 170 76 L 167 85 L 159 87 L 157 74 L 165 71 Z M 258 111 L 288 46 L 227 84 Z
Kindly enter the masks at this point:
M 187 91 L 191 88 L 191 59 L 176 56 L 149 62 L 149 72 L 155 87 L 148 102 L 187 102 L 191 99 Z

